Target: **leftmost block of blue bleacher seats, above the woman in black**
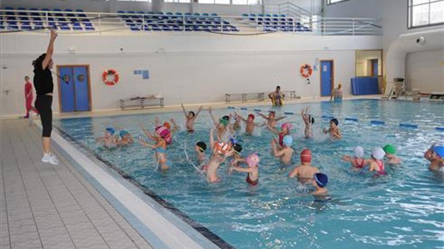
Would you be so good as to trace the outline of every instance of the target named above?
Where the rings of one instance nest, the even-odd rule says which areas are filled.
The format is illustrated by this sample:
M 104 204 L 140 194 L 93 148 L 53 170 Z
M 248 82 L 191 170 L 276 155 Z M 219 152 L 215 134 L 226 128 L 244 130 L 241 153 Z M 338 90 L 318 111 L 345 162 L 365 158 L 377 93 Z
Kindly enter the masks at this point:
M 48 13 L 47 17 L 44 14 L 37 12 L 25 12 L 25 8 L 6 7 L 5 15 L 0 19 L 0 29 L 8 30 L 38 30 L 45 26 L 63 31 L 94 31 L 95 28 L 91 21 L 85 14 L 74 13 Z M 30 8 L 29 11 L 39 11 L 36 8 Z M 51 11 L 47 8 L 41 11 Z M 61 9 L 53 9 L 52 11 L 62 12 Z M 65 12 L 73 12 L 71 9 L 66 9 Z M 83 10 L 76 10 L 76 12 L 84 12 Z

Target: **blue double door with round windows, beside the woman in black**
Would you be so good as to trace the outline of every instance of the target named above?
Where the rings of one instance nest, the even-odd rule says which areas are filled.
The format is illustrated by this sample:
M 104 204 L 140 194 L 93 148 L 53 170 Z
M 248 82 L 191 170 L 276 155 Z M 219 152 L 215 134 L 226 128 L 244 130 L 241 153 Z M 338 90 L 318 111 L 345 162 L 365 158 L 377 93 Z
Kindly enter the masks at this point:
M 58 66 L 62 112 L 91 110 L 89 67 L 87 65 Z

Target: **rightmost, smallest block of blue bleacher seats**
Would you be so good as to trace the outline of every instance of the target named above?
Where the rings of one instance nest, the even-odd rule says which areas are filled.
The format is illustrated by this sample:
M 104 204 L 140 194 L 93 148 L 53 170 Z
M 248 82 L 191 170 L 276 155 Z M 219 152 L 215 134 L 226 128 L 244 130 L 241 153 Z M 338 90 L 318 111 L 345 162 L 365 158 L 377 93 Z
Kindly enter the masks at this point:
M 242 14 L 243 21 L 249 21 L 261 28 L 265 32 L 311 32 L 309 26 L 301 23 L 292 17 L 284 14 Z

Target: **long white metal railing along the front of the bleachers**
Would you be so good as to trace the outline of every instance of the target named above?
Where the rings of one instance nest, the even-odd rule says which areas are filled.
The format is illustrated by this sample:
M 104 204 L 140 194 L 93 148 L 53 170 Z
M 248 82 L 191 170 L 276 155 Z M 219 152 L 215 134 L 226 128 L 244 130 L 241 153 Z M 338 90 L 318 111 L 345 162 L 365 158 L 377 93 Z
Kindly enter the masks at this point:
M 376 19 L 310 18 L 307 20 L 290 17 L 286 14 L 280 14 L 280 16 L 197 16 L 194 14 L 175 15 L 172 13 L 0 10 L 0 17 L 0 24 L 4 27 L 0 30 L 2 33 L 16 31 L 42 32 L 45 28 L 53 27 L 61 32 L 75 34 L 128 33 L 130 31 L 206 31 L 242 34 L 290 32 L 310 35 L 381 34 L 381 26 L 379 20 Z M 88 29 L 86 29 L 87 27 Z

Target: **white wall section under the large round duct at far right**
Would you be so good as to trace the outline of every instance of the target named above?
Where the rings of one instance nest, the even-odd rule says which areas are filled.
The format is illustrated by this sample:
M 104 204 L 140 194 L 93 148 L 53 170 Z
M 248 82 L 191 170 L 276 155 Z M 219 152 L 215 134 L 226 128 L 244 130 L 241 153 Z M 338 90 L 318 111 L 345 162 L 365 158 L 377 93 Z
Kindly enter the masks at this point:
M 444 93 L 444 50 L 414 52 L 407 55 L 406 86 L 422 93 Z M 433 82 L 434 84 L 429 84 Z

